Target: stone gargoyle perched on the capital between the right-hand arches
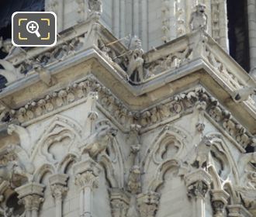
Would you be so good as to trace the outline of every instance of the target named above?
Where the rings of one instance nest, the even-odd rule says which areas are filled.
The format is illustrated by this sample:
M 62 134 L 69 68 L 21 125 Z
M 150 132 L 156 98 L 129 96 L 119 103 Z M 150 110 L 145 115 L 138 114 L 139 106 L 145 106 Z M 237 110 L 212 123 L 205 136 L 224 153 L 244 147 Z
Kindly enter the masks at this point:
M 195 147 L 195 160 L 192 161 L 192 166 L 197 168 L 206 168 L 209 160 L 209 152 L 211 150 L 213 141 L 212 137 L 204 136 L 201 142 Z

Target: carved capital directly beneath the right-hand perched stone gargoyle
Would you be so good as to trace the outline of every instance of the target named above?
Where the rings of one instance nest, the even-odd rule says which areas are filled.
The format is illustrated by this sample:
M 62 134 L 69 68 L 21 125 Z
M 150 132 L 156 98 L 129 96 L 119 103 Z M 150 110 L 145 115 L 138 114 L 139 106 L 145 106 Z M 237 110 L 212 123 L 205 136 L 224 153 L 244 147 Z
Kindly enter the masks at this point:
M 184 178 L 189 198 L 205 197 L 206 192 L 209 190 L 209 185 L 212 182 L 212 178 L 206 171 L 198 169 L 185 175 Z

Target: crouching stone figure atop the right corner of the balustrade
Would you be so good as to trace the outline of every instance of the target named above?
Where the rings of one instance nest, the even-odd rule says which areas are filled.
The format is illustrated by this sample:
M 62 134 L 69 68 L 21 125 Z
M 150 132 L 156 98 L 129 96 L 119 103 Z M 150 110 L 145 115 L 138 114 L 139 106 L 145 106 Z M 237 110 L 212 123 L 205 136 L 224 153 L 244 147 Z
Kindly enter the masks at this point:
M 199 4 L 195 6 L 195 12 L 192 12 L 189 26 L 192 31 L 202 29 L 207 31 L 208 17 L 206 15 L 206 5 Z

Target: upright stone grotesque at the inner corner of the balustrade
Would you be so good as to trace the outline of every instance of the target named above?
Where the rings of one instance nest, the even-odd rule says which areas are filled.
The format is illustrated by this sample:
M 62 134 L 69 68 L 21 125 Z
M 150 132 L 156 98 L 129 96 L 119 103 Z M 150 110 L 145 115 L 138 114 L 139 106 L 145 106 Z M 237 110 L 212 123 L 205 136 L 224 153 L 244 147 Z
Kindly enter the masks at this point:
M 137 36 L 133 36 L 130 41 L 130 55 L 128 57 L 129 64 L 127 66 L 127 74 L 130 81 L 133 81 L 134 83 L 144 80 L 143 53 L 144 50 L 142 50 L 140 39 Z

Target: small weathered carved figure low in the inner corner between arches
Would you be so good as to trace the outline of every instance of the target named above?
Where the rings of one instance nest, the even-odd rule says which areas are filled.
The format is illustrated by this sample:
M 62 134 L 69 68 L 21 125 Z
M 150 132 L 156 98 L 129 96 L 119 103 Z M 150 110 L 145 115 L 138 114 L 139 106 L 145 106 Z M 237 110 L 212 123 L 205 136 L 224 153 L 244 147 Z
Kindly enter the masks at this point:
M 128 191 L 132 194 L 137 194 L 140 192 L 141 184 L 140 184 L 141 171 L 140 167 L 137 165 L 133 165 L 130 168 L 130 175 L 128 179 Z

